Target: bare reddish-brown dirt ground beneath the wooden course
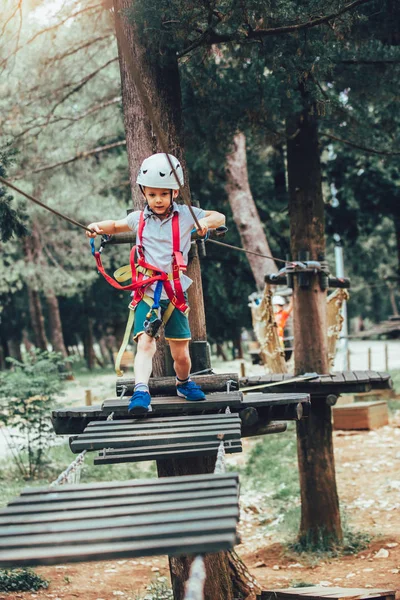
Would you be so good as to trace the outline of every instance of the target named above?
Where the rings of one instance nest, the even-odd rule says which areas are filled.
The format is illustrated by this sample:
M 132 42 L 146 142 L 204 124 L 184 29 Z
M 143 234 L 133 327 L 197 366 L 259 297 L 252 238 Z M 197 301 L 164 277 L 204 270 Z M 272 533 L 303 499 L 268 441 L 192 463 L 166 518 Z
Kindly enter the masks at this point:
M 373 536 L 366 550 L 329 560 L 288 554 L 280 543 L 279 519 L 271 516 L 268 523 L 262 495 L 242 498 L 242 543 L 237 552 L 262 589 L 299 582 L 386 588 L 398 590 L 400 600 L 400 411 L 397 415 L 389 426 L 375 431 L 334 433 L 339 498 L 352 529 Z M 239 456 L 229 461 L 243 460 L 243 455 Z M 41 567 L 36 571 L 50 580 L 47 590 L 3 593 L 0 600 L 130 600 L 144 595 L 150 581 L 169 581 L 166 557 Z

